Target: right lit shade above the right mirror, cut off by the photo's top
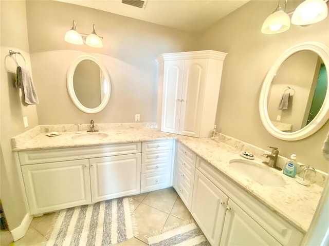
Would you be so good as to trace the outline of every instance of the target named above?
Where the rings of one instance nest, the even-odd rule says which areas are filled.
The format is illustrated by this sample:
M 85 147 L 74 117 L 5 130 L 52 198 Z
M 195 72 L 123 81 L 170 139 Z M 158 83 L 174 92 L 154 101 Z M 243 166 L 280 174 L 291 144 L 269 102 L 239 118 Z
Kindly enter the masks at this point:
M 309 25 L 320 22 L 328 15 L 328 6 L 323 0 L 306 0 L 301 3 L 291 17 L 294 25 Z

